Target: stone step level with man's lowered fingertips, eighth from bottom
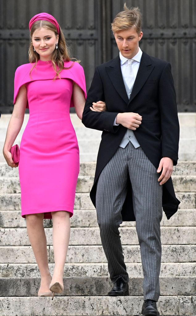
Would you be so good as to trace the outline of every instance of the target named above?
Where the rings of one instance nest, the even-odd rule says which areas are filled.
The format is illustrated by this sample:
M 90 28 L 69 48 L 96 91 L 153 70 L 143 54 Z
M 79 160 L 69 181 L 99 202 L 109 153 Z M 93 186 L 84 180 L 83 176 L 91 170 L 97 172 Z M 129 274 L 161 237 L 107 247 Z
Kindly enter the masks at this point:
M 173 176 L 174 189 L 177 192 L 195 192 L 196 176 Z M 76 192 L 90 192 L 93 185 L 93 176 L 79 176 L 76 186 Z M 0 178 L 1 193 L 20 193 L 20 181 L 17 177 Z

